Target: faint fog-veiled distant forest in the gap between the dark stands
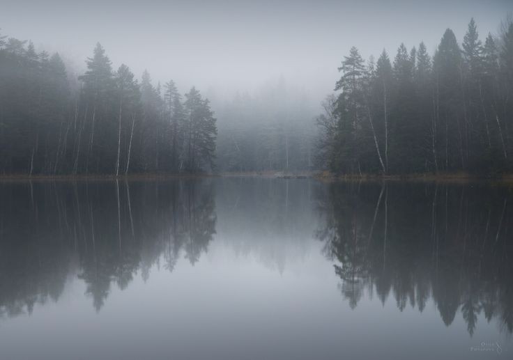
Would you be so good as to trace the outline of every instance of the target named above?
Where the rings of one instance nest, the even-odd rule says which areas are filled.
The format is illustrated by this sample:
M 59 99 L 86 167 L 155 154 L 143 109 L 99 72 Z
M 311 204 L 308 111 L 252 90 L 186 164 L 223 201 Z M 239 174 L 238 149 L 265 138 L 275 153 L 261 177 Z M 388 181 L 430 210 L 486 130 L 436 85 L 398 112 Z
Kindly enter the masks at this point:
M 307 171 L 314 166 L 318 100 L 284 79 L 257 94 L 238 93 L 217 104 L 217 171 Z

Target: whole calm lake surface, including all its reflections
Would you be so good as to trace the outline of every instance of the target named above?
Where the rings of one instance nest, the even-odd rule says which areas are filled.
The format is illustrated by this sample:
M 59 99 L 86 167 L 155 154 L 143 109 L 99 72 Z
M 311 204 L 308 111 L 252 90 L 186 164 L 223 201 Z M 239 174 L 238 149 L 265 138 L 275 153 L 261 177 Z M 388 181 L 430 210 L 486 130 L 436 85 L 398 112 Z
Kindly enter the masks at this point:
M 512 359 L 513 193 L 0 183 L 0 359 Z

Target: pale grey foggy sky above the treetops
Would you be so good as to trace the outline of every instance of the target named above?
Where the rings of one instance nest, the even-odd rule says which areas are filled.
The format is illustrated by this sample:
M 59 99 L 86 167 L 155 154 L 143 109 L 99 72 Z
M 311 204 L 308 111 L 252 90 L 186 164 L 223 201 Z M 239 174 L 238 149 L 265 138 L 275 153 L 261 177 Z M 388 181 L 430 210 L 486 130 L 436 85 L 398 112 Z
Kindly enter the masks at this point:
M 147 69 L 217 95 L 284 79 L 322 98 L 351 46 L 368 58 L 423 40 L 432 53 L 447 27 L 461 42 L 470 17 L 496 33 L 513 0 L 0 0 L 1 33 L 58 51 L 82 71 L 100 42 L 113 67 Z

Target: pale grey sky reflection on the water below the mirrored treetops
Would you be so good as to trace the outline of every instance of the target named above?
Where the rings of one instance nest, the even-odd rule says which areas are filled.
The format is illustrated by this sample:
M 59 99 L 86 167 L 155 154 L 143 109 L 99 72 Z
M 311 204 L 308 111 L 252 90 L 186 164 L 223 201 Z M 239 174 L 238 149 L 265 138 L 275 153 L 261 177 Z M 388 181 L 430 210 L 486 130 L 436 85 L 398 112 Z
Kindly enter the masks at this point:
M 99 313 L 75 278 L 56 304 L 3 320 L 0 352 L 13 360 L 468 359 L 483 339 L 513 350 L 482 316 L 473 338 L 460 313 L 445 327 L 431 300 L 423 313 L 399 312 L 393 297 L 383 306 L 367 293 L 351 311 L 317 242 L 282 274 L 225 242 L 211 245 L 194 266 L 182 258 L 173 273 L 155 265 L 146 283 L 135 276 L 124 291 L 113 286 Z

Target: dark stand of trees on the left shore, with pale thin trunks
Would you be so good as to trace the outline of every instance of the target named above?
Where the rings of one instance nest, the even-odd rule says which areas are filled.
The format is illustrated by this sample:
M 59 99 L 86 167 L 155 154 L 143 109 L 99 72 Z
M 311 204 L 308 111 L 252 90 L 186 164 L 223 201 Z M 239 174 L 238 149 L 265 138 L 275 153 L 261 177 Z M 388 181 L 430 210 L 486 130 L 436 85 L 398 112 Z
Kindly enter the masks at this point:
M 216 119 L 196 88 L 113 70 L 98 43 L 75 78 L 59 54 L 0 36 L 0 173 L 196 173 L 214 167 Z

